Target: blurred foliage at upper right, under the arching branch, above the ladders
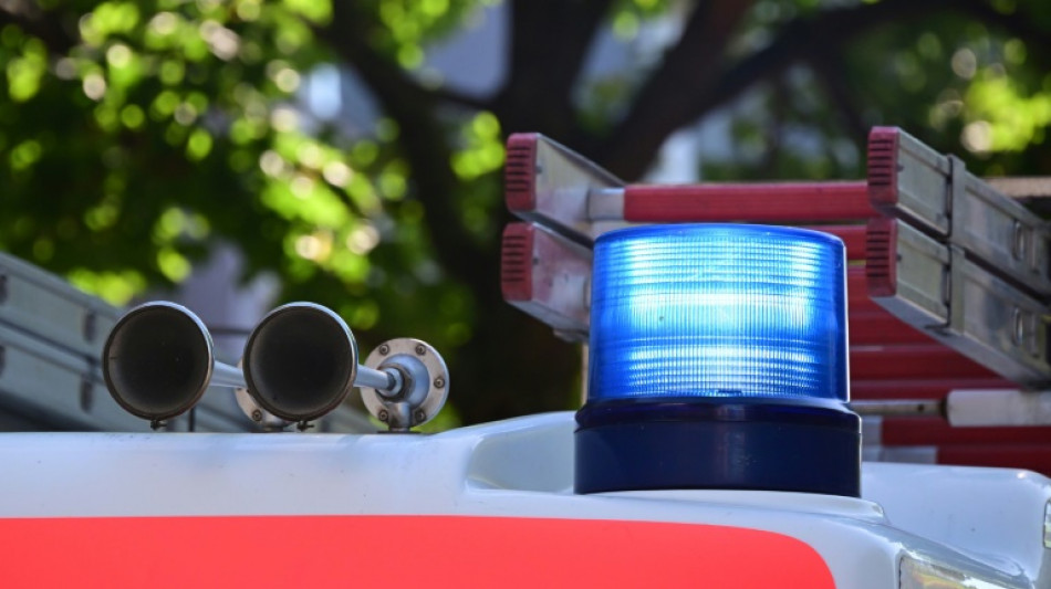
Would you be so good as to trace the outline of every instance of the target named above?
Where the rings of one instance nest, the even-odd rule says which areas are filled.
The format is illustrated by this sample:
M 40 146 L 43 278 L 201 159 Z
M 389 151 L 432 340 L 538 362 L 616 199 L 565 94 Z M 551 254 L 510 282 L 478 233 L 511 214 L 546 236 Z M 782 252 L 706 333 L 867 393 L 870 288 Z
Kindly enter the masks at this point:
M 819 4 L 759 2 L 750 34 L 763 43 Z M 1051 4 L 977 4 L 1002 19 L 903 19 L 756 85 L 730 108 L 732 148 L 703 157 L 701 176 L 862 177 L 874 125 L 902 127 L 980 176 L 1048 175 Z

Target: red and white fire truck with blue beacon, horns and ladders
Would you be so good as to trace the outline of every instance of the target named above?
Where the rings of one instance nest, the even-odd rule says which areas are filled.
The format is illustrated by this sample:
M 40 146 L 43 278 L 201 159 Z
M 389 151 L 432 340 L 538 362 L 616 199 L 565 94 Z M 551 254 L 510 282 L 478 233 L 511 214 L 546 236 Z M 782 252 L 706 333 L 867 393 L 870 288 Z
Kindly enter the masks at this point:
M 877 127 L 864 181 L 625 185 L 527 134 L 506 191 L 584 402 L 437 434 L 425 341 L 293 303 L 228 362 L 0 257 L 0 404 L 71 430 L 0 434 L 3 587 L 1051 587 L 1043 180 Z

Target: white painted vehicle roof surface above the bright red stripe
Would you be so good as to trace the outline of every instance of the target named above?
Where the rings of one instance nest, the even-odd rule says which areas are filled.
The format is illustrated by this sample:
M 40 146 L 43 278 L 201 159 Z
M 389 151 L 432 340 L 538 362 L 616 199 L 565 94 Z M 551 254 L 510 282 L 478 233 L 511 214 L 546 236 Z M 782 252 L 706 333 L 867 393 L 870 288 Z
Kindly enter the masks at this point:
M 992 583 L 972 587 L 1051 586 L 1051 482 L 1041 475 L 866 464 L 860 499 L 735 491 L 574 495 L 573 429 L 571 413 L 552 413 L 437 435 L 0 434 L 0 517 L 449 514 L 704 523 L 799 538 L 841 588 L 897 588 L 905 555 Z

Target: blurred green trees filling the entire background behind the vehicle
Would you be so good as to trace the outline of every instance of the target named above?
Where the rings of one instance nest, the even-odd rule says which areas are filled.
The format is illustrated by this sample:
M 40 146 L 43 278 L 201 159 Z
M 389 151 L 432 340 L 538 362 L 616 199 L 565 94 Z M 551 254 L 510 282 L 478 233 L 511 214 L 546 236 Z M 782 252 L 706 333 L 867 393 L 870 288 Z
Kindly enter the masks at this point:
M 500 12 L 503 88 L 444 88 L 428 48 L 493 3 L 4 2 L 0 249 L 123 304 L 236 244 L 243 278 L 278 274 L 283 299 L 332 306 L 366 349 L 434 344 L 477 421 L 566 407 L 579 382 L 572 350 L 499 301 L 508 133 L 554 134 L 628 177 L 697 122 L 724 130 L 708 179 L 859 177 L 874 124 L 979 173 L 1051 169 L 1038 0 L 519 0 Z M 622 67 L 589 70 L 600 41 Z M 378 119 L 311 113 L 301 90 L 330 64 L 362 74 Z

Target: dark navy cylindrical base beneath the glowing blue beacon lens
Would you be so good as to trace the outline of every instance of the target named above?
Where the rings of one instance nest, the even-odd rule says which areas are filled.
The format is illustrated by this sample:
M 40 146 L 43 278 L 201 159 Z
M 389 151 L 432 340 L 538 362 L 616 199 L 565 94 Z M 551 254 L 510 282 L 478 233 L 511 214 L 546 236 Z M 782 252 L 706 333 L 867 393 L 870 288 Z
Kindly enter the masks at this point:
M 861 495 L 861 418 L 770 400 L 613 400 L 576 413 L 576 493 L 673 488 Z

